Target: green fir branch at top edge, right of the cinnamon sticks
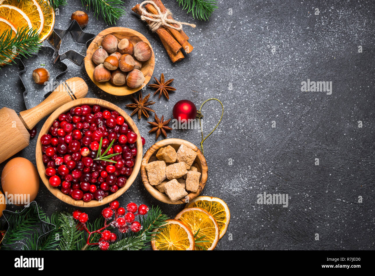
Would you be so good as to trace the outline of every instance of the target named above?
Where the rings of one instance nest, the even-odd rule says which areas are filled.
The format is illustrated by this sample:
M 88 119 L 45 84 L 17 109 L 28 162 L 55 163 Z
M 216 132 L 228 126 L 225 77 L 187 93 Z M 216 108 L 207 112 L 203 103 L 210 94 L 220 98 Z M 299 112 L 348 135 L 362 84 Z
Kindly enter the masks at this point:
M 178 6 L 182 5 L 183 10 L 192 13 L 193 18 L 208 20 L 211 13 L 217 9 L 216 0 L 177 0 Z

